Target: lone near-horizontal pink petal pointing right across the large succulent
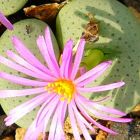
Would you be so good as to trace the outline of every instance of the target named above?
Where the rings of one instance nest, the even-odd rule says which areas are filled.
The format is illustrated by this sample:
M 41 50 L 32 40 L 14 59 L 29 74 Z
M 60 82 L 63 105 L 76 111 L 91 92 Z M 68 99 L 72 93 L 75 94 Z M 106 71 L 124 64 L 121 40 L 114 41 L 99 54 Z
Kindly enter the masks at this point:
M 108 85 L 103 85 L 103 86 L 96 86 L 96 87 L 91 87 L 91 88 L 85 88 L 85 87 L 78 87 L 77 90 L 80 92 L 101 92 L 101 91 L 107 91 L 107 90 L 112 90 L 115 88 L 119 88 L 125 85 L 124 82 L 117 82 L 113 84 L 108 84 Z

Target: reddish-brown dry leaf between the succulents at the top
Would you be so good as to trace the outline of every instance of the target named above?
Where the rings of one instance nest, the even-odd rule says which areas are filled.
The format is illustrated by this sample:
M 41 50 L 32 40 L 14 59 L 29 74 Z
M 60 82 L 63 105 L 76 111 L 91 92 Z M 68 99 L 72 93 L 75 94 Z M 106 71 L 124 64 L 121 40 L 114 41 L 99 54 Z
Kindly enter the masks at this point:
M 66 4 L 43 4 L 39 6 L 31 6 L 24 8 L 25 15 L 28 17 L 35 17 L 46 22 L 52 22 L 57 16 L 59 10 Z

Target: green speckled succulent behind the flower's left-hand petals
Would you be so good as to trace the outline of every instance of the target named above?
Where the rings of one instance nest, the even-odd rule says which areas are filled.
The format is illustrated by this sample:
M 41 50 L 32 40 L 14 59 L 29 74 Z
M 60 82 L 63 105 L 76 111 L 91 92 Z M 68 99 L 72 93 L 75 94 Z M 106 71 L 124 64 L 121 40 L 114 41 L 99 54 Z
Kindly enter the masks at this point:
M 12 50 L 13 52 L 15 52 L 15 49 L 11 42 L 11 37 L 17 36 L 34 53 L 34 55 L 37 56 L 37 58 L 40 61 L 43 60 L 40 55 L 39 49 L 37 48 L 36 39 L 38 35 L 43 34 L 46 26 L 47 26 L 46 23 L 37 19 L 26 19 L 15 23 L 14 30 L 13 31 L 6 30 L 0 38 L 0 55 L 6 56 L 5 52 L 7 50 Z M 53 33 L 52 33 L 52 40 L 54 42 L 55 54 L 58 58 L 59 49 Z M 5 71 L 14 75 L 20 75 L 20 76 L 22 75 L 23 77 L 25 77 L 24 74 L 18 73 L 17 71 L 10 69 L 3 64 L 0 64 L 0 69 L 1 71 Z M 24 87 L 0 79 L 0 89 L 21 89 L 21 88 Z M 8 113 L 11 109 L 29 100 L 32 97 L 33 96 L 0 99 L 0 103 L 4 111 Z M 32 112 L 30 112 L 29 114 L 24 116 L 21 120 L 19 120 L 17 124 L 21 127 L 25 127 L 25 128 L 28 127 L 30 123 L 33 121 L 34 117 L 36 116 L 37 110 L 38 108 L 34 109 Z

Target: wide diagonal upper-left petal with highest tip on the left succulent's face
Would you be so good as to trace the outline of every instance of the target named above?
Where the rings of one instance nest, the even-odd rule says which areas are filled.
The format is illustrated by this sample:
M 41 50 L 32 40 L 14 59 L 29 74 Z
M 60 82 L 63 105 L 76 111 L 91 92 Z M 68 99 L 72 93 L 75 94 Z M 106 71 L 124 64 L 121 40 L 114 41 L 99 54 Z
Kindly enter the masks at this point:
M 13 45 L 17 52 L 30 64 L 35 66 L 36 68 L 48 73 L 47 67 L 45 67 L 35 56 L 32 54 L 25 45 L 17 38 L 12 38 Z

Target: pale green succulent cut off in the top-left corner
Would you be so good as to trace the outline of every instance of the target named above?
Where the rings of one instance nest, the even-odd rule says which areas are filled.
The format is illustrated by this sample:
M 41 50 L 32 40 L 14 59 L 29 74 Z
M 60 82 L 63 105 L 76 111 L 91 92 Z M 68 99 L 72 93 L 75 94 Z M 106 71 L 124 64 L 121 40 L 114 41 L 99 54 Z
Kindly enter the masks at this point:
M 0 11 L 8 16 L 21 9 L 28 0 L 0 0 Z

